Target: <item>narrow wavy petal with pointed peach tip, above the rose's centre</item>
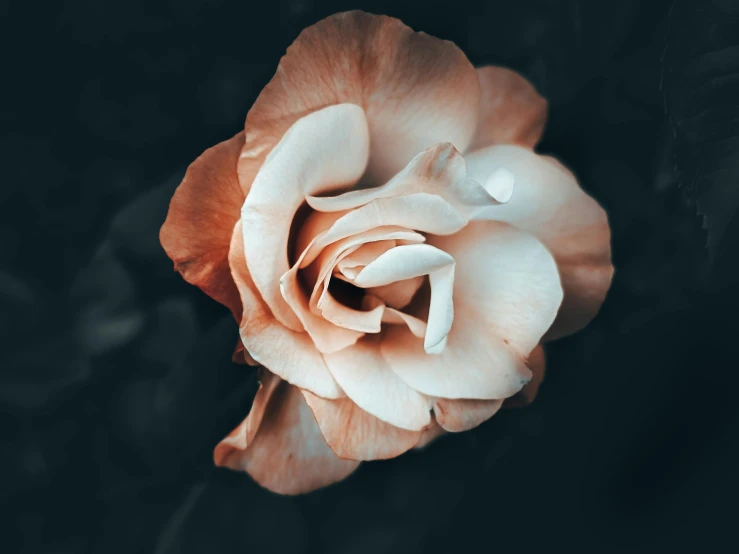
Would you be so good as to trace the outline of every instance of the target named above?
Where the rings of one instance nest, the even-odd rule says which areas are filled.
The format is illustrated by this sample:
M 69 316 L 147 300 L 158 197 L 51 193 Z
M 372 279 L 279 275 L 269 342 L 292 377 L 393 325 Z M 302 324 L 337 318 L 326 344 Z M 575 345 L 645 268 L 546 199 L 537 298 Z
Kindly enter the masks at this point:
M 480 183 L 468 179 L 464 157 L 449 143 L 437 144 L 421 152 L 380 187 L 338 196 L 309 196 L 306 201 L 314 210 L 337 212 L 358 208 L 378 198 L 417 193 L 440 196 L 468 219 L 480 210 L 499 204 Z

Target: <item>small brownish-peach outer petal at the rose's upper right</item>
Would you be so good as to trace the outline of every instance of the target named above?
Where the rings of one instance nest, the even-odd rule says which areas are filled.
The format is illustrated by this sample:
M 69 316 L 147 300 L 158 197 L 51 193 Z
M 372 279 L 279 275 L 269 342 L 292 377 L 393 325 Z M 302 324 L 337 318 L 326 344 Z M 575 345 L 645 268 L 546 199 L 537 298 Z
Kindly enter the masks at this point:
M 505 67 L 477 69 L 480 120 L 469 152 L 494 144 L 533 148 L 547 122 L 547 101 L 534 85 Z

